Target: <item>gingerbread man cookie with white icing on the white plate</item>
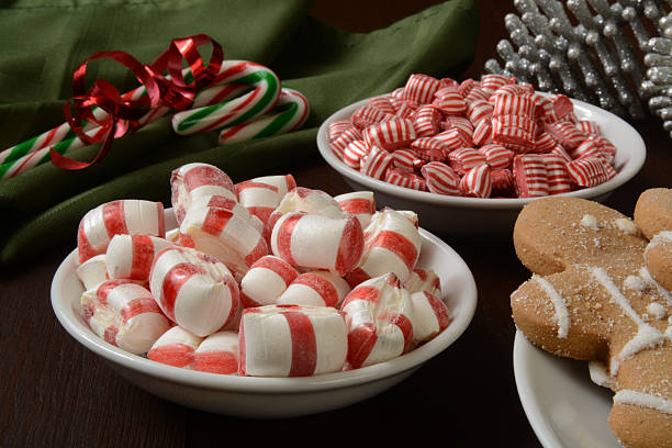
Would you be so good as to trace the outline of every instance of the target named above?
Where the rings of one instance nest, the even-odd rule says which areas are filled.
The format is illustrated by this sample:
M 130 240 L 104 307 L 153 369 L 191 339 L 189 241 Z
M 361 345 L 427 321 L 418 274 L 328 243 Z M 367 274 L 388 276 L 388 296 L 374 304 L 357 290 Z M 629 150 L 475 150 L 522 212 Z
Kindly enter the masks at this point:
M 638 204 L 637 224 L 596 202 L 544 198 L 514 228 L 516 254 L 533 271 L 511 295 L 516 326 L 546 351 L 604 366 L 603 385 L 615 392 L 609 427 L 625 447 L 672 447 L 672 294 L 653 257 L 664 245 L 647 238 L 667 231 L 639 226 L 672 216 L 672 190 L 663 195 L 648 211 Z

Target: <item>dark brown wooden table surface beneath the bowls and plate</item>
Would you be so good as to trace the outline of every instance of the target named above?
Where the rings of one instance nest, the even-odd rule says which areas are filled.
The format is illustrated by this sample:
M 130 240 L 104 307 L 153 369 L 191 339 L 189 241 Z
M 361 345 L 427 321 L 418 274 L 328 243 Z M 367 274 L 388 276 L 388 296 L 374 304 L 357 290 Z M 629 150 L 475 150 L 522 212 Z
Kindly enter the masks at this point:
M 348 31 L 385 26 L 436 1 L 315 3 L 314 15 Z M 494 46 L 507 37 L 508 1 L 479 1 L 478 54 L 463 78 L 479 77 Z M 638 194 L 670 187 L 672 141 L 659 120 L 636 124 L 647 161 L 641 172 L 607 204 L 631 214 Z M 299 184 L 338 194 L 349 191 L 318 159 L 292 170 Z M 51 307 L 49 287 L 60 260 L 58 248 L 33 266 L 0 273 L 1 447 L 180 447 L 281 446 L 284 444 L 401 446 L 428 440 L 436 446 L 537 447 L 516 392 L 509 293 L 529 273 L 509 238 L 460 240 L 438 235 L 467 261 L 477 280 L 475 316 L 450 349 L 411 378 L 376 397 L 320 415 L 283 421 L 246 421 L 193 411 L 166 402 L 126 382 L 75 341 Z

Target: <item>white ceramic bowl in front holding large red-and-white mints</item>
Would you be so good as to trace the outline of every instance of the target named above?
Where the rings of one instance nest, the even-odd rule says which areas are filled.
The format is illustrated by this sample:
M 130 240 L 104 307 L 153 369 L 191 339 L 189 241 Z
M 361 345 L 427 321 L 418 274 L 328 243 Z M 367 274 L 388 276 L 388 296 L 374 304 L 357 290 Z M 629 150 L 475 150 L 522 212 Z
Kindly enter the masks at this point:
M 175 227 L 171 210 L 166 228 Z M 448 348 L 464 332 L 477 305 L 473 276 L 447 244 L 421 229 L 417 266 L 432 268 L 441 279 L 450 309 L 450 325 L 429 343 L 379 365 L 305 378 L 223 376 L 150 361 L 99 338 L 80 314 L 83 291 L 75 272 L 77 250 L 58 267 L 52 282 L 52 306 L 64 328 L 81 345 L 102 357 L 122 377 L 149 393 L 198 410 L 253 418 L 280 418 L 335 410 L 383 392 Z

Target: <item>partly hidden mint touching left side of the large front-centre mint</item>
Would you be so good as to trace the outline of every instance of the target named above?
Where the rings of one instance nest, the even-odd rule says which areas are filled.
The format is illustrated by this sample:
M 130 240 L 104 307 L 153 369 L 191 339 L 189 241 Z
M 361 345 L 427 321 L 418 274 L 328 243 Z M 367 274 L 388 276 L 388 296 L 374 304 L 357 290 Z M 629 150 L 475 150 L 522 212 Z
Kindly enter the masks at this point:
M 208 336 L 193 352 L 192 370 L 236 374 L 238 372 L 238 334 L 217 332 Z

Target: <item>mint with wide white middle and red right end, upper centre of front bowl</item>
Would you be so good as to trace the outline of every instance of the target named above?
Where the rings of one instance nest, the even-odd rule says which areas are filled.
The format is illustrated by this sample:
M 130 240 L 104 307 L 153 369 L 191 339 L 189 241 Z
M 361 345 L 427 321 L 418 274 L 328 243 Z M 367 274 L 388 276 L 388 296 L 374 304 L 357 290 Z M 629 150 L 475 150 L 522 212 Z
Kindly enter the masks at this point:
M 361 225 L 351 215 L 333 219 L 288 213 L 273 226 L 270 240 L 273 254 L 290 265 L 328 269 L 340 276 L 355 269 L 363 250 Z

